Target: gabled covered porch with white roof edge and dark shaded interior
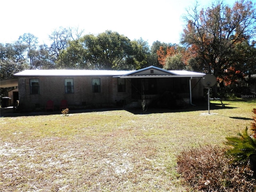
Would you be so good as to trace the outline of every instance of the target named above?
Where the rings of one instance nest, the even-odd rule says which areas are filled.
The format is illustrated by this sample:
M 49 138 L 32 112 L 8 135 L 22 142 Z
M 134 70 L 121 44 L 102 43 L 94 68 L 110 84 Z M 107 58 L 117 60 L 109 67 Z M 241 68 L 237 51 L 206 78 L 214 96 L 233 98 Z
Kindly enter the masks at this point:
M 164 100 L 168 99 L 173 105 L 174 100 L 186 100 L 192 104 L 192 89 L 204 75 L 198 72 L 164 70 L 150 66 L 114 77 L 127 79 L 132 84 L 132 100 L 145 98 L 149 102 L 154 100 L 166 105 Z M 196 80 L 193 87 L 192 79 Z

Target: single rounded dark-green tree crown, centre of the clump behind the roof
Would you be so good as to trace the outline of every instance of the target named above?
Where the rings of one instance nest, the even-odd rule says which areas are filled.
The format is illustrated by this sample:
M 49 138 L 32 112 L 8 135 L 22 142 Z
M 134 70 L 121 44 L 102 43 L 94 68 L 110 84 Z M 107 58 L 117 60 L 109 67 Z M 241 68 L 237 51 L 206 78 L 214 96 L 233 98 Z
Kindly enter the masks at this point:
M 126 69 L 126 59 L 132 54 L 131 42 L 118 32 L 106 31 L 86 35 L 83 40 L 90 63 L 95 69 Z

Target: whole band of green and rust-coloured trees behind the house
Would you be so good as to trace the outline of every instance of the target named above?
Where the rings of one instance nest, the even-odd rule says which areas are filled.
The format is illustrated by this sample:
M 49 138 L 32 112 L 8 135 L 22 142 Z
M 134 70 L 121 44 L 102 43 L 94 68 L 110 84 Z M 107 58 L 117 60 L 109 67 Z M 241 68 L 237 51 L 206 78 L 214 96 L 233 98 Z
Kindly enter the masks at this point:
M 33 34 L 14 43 L 0 44 L 0 78 L 24 69 L 134 70 L 157 66 L 166 70 L 193 70 L 214 74 L 226 85 L 256 73 L 256 10 L 250 0 L 228 6 L 215 0 L 198 4 L 184 16 L 186 27 L 180 44 L 130 40 L 118 32 L 83 34 L 83 30 L 58 28 L 50 46 L 38 44 Z

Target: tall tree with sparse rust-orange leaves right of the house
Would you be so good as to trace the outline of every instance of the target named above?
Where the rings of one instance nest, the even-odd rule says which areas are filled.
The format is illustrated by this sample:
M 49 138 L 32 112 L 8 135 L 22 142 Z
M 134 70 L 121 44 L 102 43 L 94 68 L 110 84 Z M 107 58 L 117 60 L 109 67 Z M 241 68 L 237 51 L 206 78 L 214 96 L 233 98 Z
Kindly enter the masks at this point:
M 191 60 L 201 62 L 203 72 L 214 74 L 219 82 L 227 79 L 231 70 L 235 74 L 248 72 L 238 70 L 248 65 L 248 59 L 242 52 L 236 54 L 236 47 L 250 42 L 256 33 L 256 10 L 251 1 L 239 0 L 232 8 L 216 1 L 200 11 L 196 4 L 185 20 L 182 44 L 189 47 Z

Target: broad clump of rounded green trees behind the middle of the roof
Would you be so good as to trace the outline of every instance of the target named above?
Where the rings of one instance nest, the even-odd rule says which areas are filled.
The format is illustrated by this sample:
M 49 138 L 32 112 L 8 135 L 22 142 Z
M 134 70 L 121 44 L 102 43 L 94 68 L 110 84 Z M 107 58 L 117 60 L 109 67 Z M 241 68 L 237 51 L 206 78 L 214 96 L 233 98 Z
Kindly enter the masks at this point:
M 105 70 L 135 69 L 144 65 L 147 44 L 143 40 L 130 41 L 117 32 L 106 31 L 94 36 L 88 34 L 68 43 L 60 53 L 58 66 Z

